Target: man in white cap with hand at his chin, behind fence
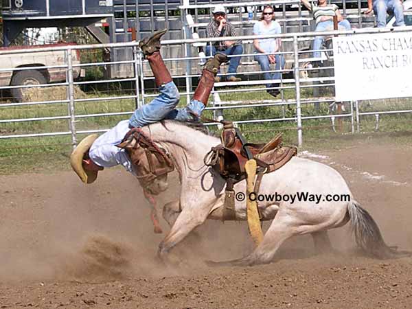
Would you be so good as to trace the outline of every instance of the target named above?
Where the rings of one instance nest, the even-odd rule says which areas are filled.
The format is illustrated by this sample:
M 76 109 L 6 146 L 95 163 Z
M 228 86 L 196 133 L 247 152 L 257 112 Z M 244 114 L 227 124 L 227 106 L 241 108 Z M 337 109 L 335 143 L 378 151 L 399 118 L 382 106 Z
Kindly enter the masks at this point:
M 212 10 L 213 20 L 207 25 L 206 33 L 209 38 L 217 38 L 219 36 L 238 36 L 235 27 L 227 21 L 226 10 L 223 5 L 216 5 Z M 226 55 L 241 55 L 243 54 L 242 42 L 240 41 L 220 41 L 215 42 L 214 45 L 206 46 L 206 56 L 214 56 L 216 52 Z M 240 57 L 230 58 L 229 68 L 227 69 L 227 80 L 231 82 L 239 82 L 241 79 L 237 78 L 236 72 Z M 220 82 L 220 77 L 216 76 L 215 82 Z

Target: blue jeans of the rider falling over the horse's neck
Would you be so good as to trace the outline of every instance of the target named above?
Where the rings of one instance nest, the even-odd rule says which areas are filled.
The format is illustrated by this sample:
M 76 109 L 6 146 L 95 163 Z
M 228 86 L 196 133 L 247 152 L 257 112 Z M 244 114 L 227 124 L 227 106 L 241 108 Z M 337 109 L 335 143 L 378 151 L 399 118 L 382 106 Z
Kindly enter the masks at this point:
M 180 97 L 174 82 L 161 86 L 159 91 L 159 95 L 152 102 L 137 108 L 129 119 L 130 126 L 139 128 L 161 119 L 194 120 L 197 118 L 196 115 L 200 116 L 205 108 L 202 102 L 192 100 L 186 107 L 175 109 Z

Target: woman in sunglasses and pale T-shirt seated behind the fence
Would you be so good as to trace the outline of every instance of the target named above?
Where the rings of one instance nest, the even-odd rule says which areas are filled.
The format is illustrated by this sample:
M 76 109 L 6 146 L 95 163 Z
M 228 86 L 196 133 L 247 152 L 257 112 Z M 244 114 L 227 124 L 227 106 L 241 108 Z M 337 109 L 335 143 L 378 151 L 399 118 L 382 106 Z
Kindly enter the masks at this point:
M 258 23 L 255 23 L 253 26 L 253 34 L 261 35 L 261 34 L 280 34 L 282 30 L 280 25 L 277 21 L 275 21 L 275 14 L 274 14 L 273 6 L 271 5 L 264 5 L 262 16 Z M 270 71 L 271 65 L 275 64 L 275 70 L 279 71 L 284 67 L 284 57 L 279 54 L 275 54 L 279 52 L 279 49 L 282 45 L 282 41 L 280 38 L 256 38 L 253 40 L 253 46 L 256 49 L 256 52 L 262 54 L 270 54 L 270 55 L 256 55 L 255 60 L 259 62 L 260 68 L 262 71 Z M 263 73 L 265 80 L 278 80 L 281 78 L 280 72 L 275 73 Z M 267 92 L 274 97 L 276 97 L 280 91 L 279 89 L 269 89 L 273 87 L 279 87 L 279 84 L 266 84 L 268 88 Z

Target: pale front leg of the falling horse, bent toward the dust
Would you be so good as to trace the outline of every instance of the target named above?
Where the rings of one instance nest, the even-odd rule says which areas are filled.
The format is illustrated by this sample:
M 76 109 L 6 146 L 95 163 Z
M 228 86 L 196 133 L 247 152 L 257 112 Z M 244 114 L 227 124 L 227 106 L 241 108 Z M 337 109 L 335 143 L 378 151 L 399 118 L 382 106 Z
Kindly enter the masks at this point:
M 174 247 L 176 244 L 179 244 L 193 229 L 202 225 L 205 222 L 213 203 L 207 203 L 204 205 L 187 205 L 182 207 L 182 211 L 179 216 L 176 218 L 172 229 L 165 237 L 165 239 L 159 244 L 159 250 L 157 255 L 161 260 L 165 260 L 167 253 Z

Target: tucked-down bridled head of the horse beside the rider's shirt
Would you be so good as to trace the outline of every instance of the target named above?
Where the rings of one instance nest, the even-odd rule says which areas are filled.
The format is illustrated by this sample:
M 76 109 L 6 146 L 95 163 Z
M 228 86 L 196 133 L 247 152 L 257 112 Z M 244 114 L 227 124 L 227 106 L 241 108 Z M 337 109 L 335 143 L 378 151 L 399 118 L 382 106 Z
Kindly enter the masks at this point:
M 168 189 L 168 173 L 172 172 L 173 166 L 163 157 L 164 150 L 146 144 L 142 146 L 133 136 L 117 147 L 128 152 L 137 179 L 144 190 L 157 195 Z

